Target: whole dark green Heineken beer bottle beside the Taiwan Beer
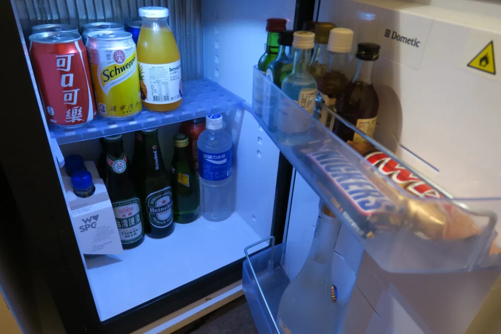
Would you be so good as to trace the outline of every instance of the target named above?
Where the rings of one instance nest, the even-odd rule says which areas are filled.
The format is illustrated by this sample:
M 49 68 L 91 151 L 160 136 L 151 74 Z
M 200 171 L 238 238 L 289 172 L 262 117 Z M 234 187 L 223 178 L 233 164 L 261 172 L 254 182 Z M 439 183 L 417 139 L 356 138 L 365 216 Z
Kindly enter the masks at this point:
M 170 177 L 163 165 L 157 128 L 141 130 L 140 134 L 145 169 L 140 188 L 144 227 L 152 238 L 163 238 L 174 231 Z

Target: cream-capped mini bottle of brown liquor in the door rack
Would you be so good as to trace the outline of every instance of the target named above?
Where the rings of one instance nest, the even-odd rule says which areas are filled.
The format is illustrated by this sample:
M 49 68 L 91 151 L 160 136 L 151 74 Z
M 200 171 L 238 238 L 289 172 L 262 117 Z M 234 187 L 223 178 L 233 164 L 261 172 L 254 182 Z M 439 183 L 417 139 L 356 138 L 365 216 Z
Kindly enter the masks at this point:
M 333 130 L 334 120 L 329 109 L 335 111 L 336 100 L 348 85 L 346 70 L 352 44 L 352 30 L 346 28 L 332 29 L 327 45 L 328 53 L 325 64 L 318 67 L 316 72 L 318 94 L 314 115 L 331 131 Z M 322 103 L 328 108 L 322 108 Z

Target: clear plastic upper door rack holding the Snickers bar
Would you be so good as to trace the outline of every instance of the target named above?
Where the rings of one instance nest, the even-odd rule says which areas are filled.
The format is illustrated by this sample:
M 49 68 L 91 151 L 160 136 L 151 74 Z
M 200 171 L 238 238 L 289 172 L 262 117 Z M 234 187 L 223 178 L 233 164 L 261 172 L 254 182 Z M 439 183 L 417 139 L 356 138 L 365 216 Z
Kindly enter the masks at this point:
M 436 196 L 432 198 L 411 195 L 257 68 L 252 109 L 280 151 L 385 270 L 424 273 L 501 267 L 501 236 L 495 230 L 501 197 L 452 198 L 333 113 L 336 122 L 357 131 L 373 150 L 394 159 L 398 168 L 404 167 L 414 186 L 437 189 L 431 189 Z

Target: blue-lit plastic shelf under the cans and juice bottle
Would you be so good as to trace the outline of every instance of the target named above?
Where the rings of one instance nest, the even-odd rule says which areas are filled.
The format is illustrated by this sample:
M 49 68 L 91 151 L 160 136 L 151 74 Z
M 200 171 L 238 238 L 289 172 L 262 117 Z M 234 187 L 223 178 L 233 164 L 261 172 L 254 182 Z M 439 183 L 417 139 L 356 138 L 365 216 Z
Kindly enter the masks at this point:
M 143 109 L 139 114 L 125 119 L 98 115 L 95 120 L 76 128 L 49 124 L 49 132 L 51 138 L 62 145 L 224 113 L 240 108 L 243 103 L 242 99 L 208 79 L 183 83 L 183 93 L 181 106 L 171 112 L 158 113 Z

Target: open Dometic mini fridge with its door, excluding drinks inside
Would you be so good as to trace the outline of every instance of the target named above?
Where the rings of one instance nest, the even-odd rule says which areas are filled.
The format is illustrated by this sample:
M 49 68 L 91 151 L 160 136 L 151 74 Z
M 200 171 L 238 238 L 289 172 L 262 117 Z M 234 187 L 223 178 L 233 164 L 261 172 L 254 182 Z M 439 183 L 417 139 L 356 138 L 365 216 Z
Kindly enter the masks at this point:
M 97 117 L 78 128 L 49 124 L 30 61 L 31 27 L 127 24 L 139 20 L 143 6 L 170 11 L 181 106 L 127 119 Z M 501 325 L 485 329 L 499 315 L 492 296 L 501 286 L 498 1 L 11 0 L 2 11 L 6 67 L 15 80 L 5 81 L 1 158 L 12 215 L 0 243 L 0 286 L 24 332 L 168 333 L 243 293 L 259 332 L 277 332 L 274 307 L 285 286 L 262 280 L 266 264 L 275 259 L 285 279 L 294 279 L 320 202 L 341 222 L 333 284 L 346 305 L 344 333 L 501 332 Z M 374 145 L 397 161 L 395 170 L 368 163 L 257 69 L 268 18 L 284 18 L 294 30 L 305 21 L 353 30 L 350 75 L 357 43 L 381 46 Z M 233 141 L 235 212 L 221 222 L 176 223 L 168 237 L 146 236 L 121 254 L 84 257 L 63 186 L 64 158 L 80 154 L 96 162 L 99 138 L 122 134 L 133 160 L 134 131 L 158 127 L 170 168 L 179 123 L 214 113 L 223 115 Z M 277 122 L 280 128 L 285 118 L 308 125 L 308 136 L 284 141 Z M 391 204 L 391 224 L 361 233 L 379 211 L 365 210 L 315 159 L 326 152 Z M 412 196 L 395 183 L 399 170 L 442 195 Z M 362 200 L 380 205 L 378 196 Z M 416 232 L 415 212 L 431 216 L 437 207 L 459 212 L 447 228 L 461 234 L 466 220 L 473 232 L 448 238 Z

